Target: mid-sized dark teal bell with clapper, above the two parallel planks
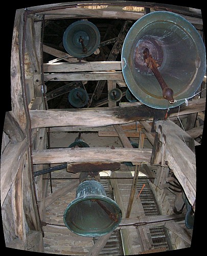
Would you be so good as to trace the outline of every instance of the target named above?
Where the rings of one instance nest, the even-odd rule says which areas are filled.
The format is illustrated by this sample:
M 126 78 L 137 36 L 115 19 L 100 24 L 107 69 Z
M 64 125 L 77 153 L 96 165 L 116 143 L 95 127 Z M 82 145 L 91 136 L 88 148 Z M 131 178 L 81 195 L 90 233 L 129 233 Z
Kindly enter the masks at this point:
M 93 54 L 99 47 L 98 28 L 87 20 L 78 20 L 67 27 L 63 34 L 63 46 L 67 53 L 77 58 Z

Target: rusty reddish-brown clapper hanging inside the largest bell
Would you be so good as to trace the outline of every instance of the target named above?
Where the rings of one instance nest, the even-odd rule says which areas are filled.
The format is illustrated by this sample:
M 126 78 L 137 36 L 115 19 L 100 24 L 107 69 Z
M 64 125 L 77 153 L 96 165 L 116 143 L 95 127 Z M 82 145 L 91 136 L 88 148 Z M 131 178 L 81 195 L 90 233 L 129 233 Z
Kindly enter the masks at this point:
M 143 58 L 145 60 L 145 63 L 147 64 L 147 67 L 152 70 L 155 77 L 157 78 L 157 80 L 160 84 L 160 87 L 163 90 L 164 99 L 167 99 L 171 104 L 174 103 L 175 100 L 173 99 L 173 90 L 167 86 L 162 75 L 159 73 L 159 71 L 157 69 L 157 67 L 159 67 L 159 65 L 156 62 L 156 60 L 154 60 L 152 58 L 151 54 L 149 53 L 148 48 L 145 48 L 145 50 L 143 51 Z

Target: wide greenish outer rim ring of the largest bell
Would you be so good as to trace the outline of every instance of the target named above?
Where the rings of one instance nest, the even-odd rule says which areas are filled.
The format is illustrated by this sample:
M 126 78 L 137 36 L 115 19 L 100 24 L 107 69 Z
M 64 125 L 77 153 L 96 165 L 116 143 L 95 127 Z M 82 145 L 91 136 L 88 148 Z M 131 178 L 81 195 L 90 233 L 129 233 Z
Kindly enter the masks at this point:
M 162 15 L 160 15 L 162 14 Z M 148 20 L 148 17 L 151 16 L 150 18 L 150 22 Z M 171 20 L 167 19 L 167 17 L 171 18 Z M 159 22 L 159 21 L 168 21 L 168 22 L 173 22 L 176 23 L 175 21 L 179 19 L 182 20 L 183 23 L 185 23 L 186 25 L 186 30 L 187 33 L 190 35 L 190 37 L 192 38 L 193 41 L 200 41 L 200 44 L 196 44 L 196 47 L 198 49 L 198 55 L 200 57 L 200 62 L 201 65 L 198 68 L 199 73 L 201 73 L 200 78 L 197 78 L 196 84 L 197 86 L 195 86 L 195 81 L 193 81 L 192 83 L 194 83 L 194 86 L 192 87 L 196 87 L 196 90 L 194 89 L 194 92 L 192 92 L 191 94 L 188 95 L 188 97 L 185 96 L 185 92 L 179 94 L 178 96 L 174 97 L 176 102 L 173 104 L 170 104 L 166 99 L 160 97 L 160 98 L 155 98 L 150 96 L 149 94 L 145 93 L 140 87 L 139 84 L 137 83 L 134 78 L 133 75 L 131 73 L 131 69 L 128 65 L 129 61 L 128 61 L 128 56 L 130 52 L 130 48 L 133 45 L 133 31 L 136 31 L 136 35 L 138 35 L 140 33 L 140 31 L 148 26 L 150 23 L 154 23 L 154 22 Z M 137 30 L 136 26 L 137 24 L 139 24 L 140 29 Z M 142 26 L 144 24 L 144 26 Z M 138 27 L 139 27 L 138 26 Z M 182 28 L 183 29 L 183 28 Z M 189 31 L 188 31 L 189 30 Z M 128 50 L 129 49 L 129 50 Z M 202 53 L 202 54 L 201 54 Z M 124 44 L 122 47 L 122 53 L 121 53 L 121 66 L 122 66 L 122 73 L 123 73 L 123 77 L 124 80 L 127 84 L 127 87 L 129 89 L 129 91 L 131 92 L 131 94 L 140 102 L 142 102 L 143 104 L 151 107 L 151 108 L 155 108 L 155 109 L 171 109 L 171 108 L 175 108 L 176 106 L 181 105 L 182 103 L 185 103 L 185 99 L 187 98 L 192 98 L 195 94 L 195 92 L 199 89 L 201 83 L 202 83 L 202 79 L 204 77 L 205 74 L 205 68 L 206 68 L 206 59 L 205 59 L 205 46 L 203 43 L 203 40 L 201 38 L 201 36 L 199 35 L 199 33 L 197 32 L 197 30 L 195 29 L 195 27 L 188 22 L 187 19 L 183 18 L 182 16 L 176 14 L 176 13 L 172 13 L 172 12 L 168 12 L 168 11 L 154 11 L 154 12 L 150 12 L 144 16 L 142 16 L 140 19 L 138 19 L 130 28 L 130 30 L 128 31 L 125 40 L 124 40 Z M 127 75 L 129 74 L 129 75 Z M 134 89 L 136 88 L 136 90 Z M 146 100 L 147 99 L 147 100 Z M 149 102 L 149 99 L 152 100 L 152 102 Z M 161 103 L 162 102 L 162 103 Z

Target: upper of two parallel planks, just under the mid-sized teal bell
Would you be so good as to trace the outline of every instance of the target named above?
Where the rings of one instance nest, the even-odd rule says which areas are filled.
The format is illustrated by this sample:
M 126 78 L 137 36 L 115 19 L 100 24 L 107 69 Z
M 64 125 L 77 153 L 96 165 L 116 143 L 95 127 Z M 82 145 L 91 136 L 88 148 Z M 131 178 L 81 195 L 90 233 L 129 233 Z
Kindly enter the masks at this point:
M 85 71 L 108 71 L 108 70 L 122 70 L 121 61 L 88 61 L 77 63 L 44 63 L 44 73 L 56 72 L 85 72 Z

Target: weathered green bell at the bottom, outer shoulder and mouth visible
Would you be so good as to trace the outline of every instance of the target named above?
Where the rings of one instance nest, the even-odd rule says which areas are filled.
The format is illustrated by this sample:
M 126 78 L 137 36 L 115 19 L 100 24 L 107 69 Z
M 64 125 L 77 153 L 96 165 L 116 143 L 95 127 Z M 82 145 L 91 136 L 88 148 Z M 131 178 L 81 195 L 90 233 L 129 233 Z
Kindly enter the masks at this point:
M 83 237 L 100 237 L 116 229 L 122 220 L 118 204 L 106 197 L 103 185 L 96 180 L 80 183 L 76 199 L 68 204 L 64 223 Z

